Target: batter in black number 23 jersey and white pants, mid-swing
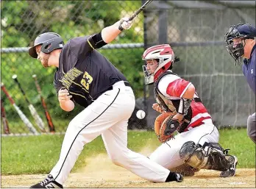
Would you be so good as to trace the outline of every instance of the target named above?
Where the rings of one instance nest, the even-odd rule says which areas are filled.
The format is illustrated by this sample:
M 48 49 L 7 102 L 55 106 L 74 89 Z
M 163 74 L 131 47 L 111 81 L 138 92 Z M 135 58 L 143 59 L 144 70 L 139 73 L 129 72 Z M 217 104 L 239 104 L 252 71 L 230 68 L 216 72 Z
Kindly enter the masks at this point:
M 85 110 L 68 125 L 60 159 L 49 176 L 31 188 L 63 188 L 85 144 L 99 135 L 115 165 L 152 182 L 182 182 L 182 175 L 127 148 L 127 123 L 135 108 L 135 96 L 124 75 L 96 49 L 131 26 L 132 21 L 123 18 L 98 34 L 72 38 L 65 45 L 60 35 L 53 32 L 35 39 L 29 54 L 44 67 L 57 68 L 54 87 L 60 107 L 71 111 L 76 102 Z

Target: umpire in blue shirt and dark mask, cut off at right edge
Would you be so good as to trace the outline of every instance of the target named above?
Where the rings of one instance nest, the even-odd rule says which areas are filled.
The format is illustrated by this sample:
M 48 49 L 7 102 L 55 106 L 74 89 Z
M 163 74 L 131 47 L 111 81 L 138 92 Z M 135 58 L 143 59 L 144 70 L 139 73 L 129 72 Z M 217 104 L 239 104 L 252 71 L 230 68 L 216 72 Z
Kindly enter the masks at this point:
M 239 64 L 243 57 L 243 74 L 249 87 L 256 94 L 256 28 L 250 24 L 230 26 L 224 36 L 227 42 L 227 51 Z M 247 119 L 247 135 L 256 143 L 256 114 L 249 115 Z

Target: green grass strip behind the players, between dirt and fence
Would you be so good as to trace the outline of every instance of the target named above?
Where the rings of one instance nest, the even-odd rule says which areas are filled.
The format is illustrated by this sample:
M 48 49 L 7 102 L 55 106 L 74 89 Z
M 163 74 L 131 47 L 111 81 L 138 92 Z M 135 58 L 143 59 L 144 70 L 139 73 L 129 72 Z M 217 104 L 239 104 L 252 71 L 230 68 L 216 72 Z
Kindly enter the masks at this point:
M 221 146 L 230 148 L 230 154 L 238 157 L 238 168 L 255 168 L 255 143 L 246 135 L 246 129 L 220 130 Z M 63 135 L 40 135 L 1 138 L 1 174 L 47 174 L 57 163 Z M 141 151 L 149 146 L 152 151 L 160 145 L 154 132 L 130 131 L 128 146 L 133 151 Z M 98 137 L 85 145 L 75 172 L 86 165 L 86 158 L 96 154 L 106 154 L 102 138 Z

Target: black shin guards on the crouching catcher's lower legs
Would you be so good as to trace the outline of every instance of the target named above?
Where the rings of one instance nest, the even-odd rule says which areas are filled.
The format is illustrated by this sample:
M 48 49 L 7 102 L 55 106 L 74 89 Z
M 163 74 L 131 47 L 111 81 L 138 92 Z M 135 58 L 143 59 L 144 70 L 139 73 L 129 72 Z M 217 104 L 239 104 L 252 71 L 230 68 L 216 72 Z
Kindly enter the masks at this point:
M 185 163 L 193 168 L 212 169 L 216 171 L 228 171 L 230 168 L 230 155 L 225 153 L 218 143 L 205 143 L 203 146 L 188 141 L 183 144 L 179 156 Z

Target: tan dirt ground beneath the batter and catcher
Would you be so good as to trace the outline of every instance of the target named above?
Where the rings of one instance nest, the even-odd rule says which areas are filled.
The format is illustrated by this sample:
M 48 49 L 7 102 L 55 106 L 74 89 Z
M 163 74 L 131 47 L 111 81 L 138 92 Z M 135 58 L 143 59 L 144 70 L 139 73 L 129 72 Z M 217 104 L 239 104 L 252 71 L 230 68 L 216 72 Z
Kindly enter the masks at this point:
M 201 170 L 183 182 L 153 183 L 141 179 L 100 154 L 89 159 L 79 173 L 68 176 L 65 188 L 255 188 L 255 169 L 240 168 L 236 176 L 220 178 L 218 171 Z M 1 188 L 29 188 L 46 175 L 1 176 Z

